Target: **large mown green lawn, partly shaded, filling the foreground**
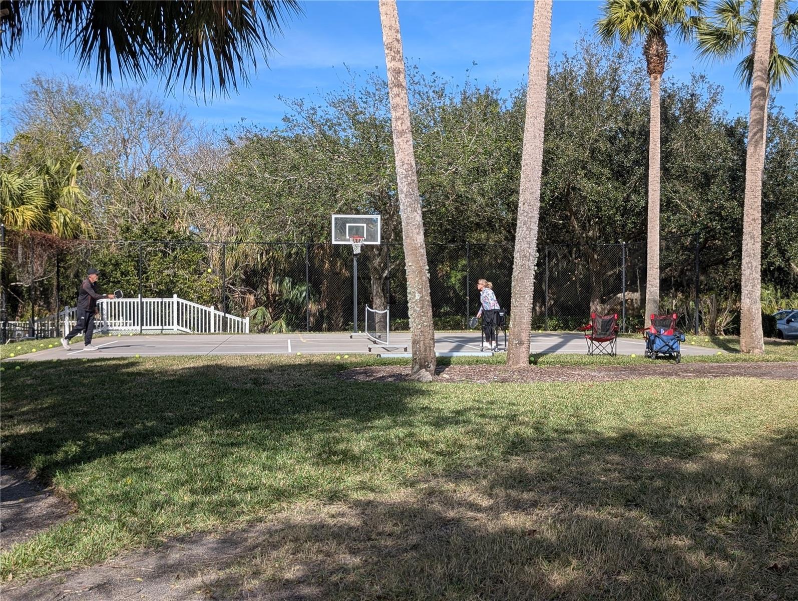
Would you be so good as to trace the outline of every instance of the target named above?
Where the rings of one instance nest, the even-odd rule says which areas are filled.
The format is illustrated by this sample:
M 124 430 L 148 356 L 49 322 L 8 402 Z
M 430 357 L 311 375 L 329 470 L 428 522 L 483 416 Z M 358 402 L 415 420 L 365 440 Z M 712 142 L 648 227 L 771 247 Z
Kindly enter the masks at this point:
M 796 382 L 335 377 L 365 361 L 6 370 L 3 461 L 52 479 L 77 516 L 4 553 L 0 576 L 279 519 L 231 573 L 278 591 L 298 565 L 314 566 L 306 578 L 326 599 L 798 591 Z

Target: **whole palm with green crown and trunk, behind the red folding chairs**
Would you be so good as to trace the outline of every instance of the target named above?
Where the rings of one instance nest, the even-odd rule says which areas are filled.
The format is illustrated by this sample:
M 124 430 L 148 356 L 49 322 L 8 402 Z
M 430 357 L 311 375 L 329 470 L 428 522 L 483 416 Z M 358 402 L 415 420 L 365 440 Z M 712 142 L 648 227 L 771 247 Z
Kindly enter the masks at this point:
M 666 36 L 674 31 L 681 38 L 691 38 L 699 21 L 704 0 L 606 0 L 602 18 L 596 22 L 605 42 L 619 38 L 631 44 L 643 38 L 651 87 L 649 123 L 648 180 L 648 265 L 646 268 L 646 326 L 650 314 L 659 310 L 659 86 L 668 60 Z

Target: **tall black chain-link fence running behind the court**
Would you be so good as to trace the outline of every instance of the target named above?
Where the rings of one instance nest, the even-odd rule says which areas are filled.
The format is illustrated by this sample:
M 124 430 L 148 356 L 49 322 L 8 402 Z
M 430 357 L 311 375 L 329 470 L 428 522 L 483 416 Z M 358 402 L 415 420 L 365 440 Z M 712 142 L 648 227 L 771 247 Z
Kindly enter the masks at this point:
M 696 235 L 663 236 L 662 310 L 697 326 L 701 267 L 708 246 Z M 467 329 L 479 309 L 477 280 L 487 279 L 510 306 L 511 244 L 429 243 L 430 294 L 437 330 Z M 362 330 L 365 306 L 390 309 L 392 330 L 409 329 L 401 244 L 364 246 L 354 287 L 354 256 L 329 243 L 199 243 L 186 241 L 64 241 L 9 235 L 2 247 L 3 340 L 61 335 L 57 314 L 74 306 L 88 267 L 98 290 L 126 298 L 178 297 L 250 318 L 250 331 Z M 713 267 L 714 269 L 714 267 Z M 618 313 L 624 331 L 642 326 L 646 243 L 544 245 L 535 271 L 535 330 L 575 330 L 592 310 Z M 697 302 L 698 301 L 698 302 Z M 223 325 L 222 330 L 227 330 Z

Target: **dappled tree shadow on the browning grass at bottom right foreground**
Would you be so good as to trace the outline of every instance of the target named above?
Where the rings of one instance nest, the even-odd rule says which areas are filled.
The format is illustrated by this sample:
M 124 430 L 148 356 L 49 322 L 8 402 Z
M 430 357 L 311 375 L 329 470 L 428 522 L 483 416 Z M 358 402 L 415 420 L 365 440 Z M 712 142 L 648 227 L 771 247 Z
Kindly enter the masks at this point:
M 97 599 L 194 599 L 198 583 L 215 599 L 796 599 L 796 443 L 555 432 L 488 469 L 294 506 L 63 587 L 79 579 Z

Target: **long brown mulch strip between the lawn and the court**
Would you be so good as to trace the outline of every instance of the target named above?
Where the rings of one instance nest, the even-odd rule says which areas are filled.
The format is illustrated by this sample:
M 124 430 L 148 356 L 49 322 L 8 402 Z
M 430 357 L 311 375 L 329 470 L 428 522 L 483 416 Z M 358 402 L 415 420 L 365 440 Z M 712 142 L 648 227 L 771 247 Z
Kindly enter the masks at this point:
M 356 367 L 342 371 L 339 378 L 350 382 L 407 382 L 406 366 Z M 618 382 L 638 378 L 764 378 L 798 380 L 798 363 L 670 363 L 645 366 L 567 367 L 528 366 L 513 369 L 507 366 L 472 365 L 438 366 L 436 382 Z

